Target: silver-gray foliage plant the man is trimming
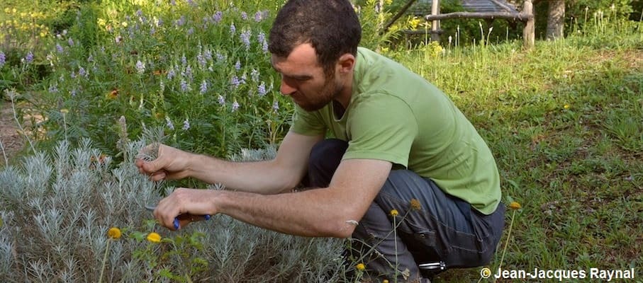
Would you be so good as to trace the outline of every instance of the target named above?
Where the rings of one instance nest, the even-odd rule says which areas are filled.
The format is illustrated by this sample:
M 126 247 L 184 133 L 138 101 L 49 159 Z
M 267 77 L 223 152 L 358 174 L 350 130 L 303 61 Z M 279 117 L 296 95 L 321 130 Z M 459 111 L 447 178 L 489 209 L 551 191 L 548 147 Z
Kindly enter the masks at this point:
M 2 168 L 0 282 L 98 282 L 111 226 L 121 227 L 124 235 L 111 243 L 104 282 L 169 282 L 158 276 L 161 268 L 184 270 L 189 262 L 181 258 L 151 268 L 133 255 L 146 243 L 128 233 L 146 229 L 152 215 L 144 206 L 160 199 L 157 184 L 134 166 L 144 145 L 128 142 L 125 161 L 113 165 L 88 140 L 75 149 L 61 141 L 51 154 L 38 152 Z M 274 155 L 274 149 L 244 150 L 232 159 Z M 342 245 L 334 239 L 288 236 L 224 215 L 177 232 L 158 225 L 155 231 L 163 237 L 205 235 L 203 249 L 190 251 L 207 261 L 205 271 L 192 275 L 195 281 L 336 282 L 342 277 Z

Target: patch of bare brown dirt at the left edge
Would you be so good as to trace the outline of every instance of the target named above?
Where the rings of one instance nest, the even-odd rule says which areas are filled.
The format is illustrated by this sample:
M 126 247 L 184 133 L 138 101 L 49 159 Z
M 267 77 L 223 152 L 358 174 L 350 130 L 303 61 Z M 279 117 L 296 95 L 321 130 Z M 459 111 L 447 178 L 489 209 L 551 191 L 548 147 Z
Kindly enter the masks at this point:
M 22 149 L 25 140 L 24 137 L 18 134 L 16 120 L 13 119 L 13 110 L 11 110 L 11 102 L 0 100 L 0 103 L 0 141 L 4 146 L 6 157 L 11 162 L 12 156 Z M 2 163 L 4 163 L 4 157 L 0 152 L 0 164 Z

